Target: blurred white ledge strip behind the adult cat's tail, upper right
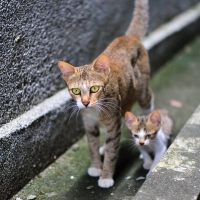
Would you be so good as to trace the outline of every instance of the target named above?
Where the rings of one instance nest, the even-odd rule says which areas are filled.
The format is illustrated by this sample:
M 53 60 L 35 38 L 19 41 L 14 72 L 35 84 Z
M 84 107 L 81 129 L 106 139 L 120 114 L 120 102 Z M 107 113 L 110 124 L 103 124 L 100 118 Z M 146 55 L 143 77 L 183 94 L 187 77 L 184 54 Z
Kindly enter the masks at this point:
M 192 22 L 195 22 L 199 17 L 200 3 L 153 31 L 143 40 L 145 48 L 149 51 L 161 41 L 165 40 L 174 33 L 181 31 Z

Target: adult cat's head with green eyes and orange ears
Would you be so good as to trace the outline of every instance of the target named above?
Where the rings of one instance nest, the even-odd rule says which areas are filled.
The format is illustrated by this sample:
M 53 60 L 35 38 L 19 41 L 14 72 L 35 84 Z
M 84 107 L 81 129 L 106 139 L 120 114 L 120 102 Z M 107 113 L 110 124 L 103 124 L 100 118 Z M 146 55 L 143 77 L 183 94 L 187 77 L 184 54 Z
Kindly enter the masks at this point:
M 104 97 L 104 88 L 110 74 L 110 62 L 106 55 L 100 55 L 90 65 L 74 67 L 59 61 L 58 66 L 70 95 L 80 109 L 95 107 L 99 99 Z

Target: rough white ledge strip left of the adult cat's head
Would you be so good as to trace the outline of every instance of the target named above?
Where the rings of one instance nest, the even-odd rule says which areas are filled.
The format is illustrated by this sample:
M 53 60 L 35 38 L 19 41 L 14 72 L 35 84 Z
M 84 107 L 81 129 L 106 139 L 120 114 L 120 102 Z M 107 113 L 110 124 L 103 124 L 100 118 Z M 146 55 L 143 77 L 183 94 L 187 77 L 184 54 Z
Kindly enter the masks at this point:
M 34 106 L 29 111 L 25 112 L 21 116 L 2 126 L 0 128 L 0 139 L 9 136 L 15 131 L 28 127 L 35 120 L 49 113 L 50 111 L 59 108 L 61 105 L 64 105 L 70 99 L 71 96 L 67 89 L 63 89 L 57 92 L 52 97 L 44 100 L 42 103 L 38 104 L 37 106 Z

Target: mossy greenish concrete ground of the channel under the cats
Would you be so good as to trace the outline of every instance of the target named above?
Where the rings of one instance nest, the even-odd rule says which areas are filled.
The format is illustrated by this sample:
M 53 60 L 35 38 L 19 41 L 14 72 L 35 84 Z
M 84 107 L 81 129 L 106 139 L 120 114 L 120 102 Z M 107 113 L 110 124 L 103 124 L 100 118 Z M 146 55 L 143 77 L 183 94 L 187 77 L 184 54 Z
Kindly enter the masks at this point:
M 178 134 L 200 103 L 199 47 L 200 37 L 163 66 L 151 80 L 151 87 L 155 94 L 155 106 L 170 111 L 175 121 L 175 135 Z M 141 113 L 137 105 L 133 108 L 133 112 L 135 114 Z M 102 144 L 104 137 L 102 134 Z M 90 156 L 87 140 L 83 137 L 16 194 L 12 200 L 17 198 L 17 200 L 129 200 L 144 182 L 144 180 L 136 179 L 144 177 L 147 173 L 142 169 L 142 160 L 139 159 L 139 153 L 134 148 L 130 133 L 125 125 L 123 125 L 114 187 L 99 188 L 98 178 L 87 175 L 89 165 Z

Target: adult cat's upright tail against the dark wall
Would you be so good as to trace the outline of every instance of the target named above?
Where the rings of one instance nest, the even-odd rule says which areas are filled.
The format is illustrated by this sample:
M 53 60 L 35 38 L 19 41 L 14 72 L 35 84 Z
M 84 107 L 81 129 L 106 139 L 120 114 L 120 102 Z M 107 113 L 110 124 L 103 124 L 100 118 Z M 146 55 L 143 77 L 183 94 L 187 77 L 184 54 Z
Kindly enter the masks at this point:
M 148 0 L 135 0 L 133 18 L 125 35 L 136 36 L 140 39 L 146 35 L 149 22 L 148 10 Z

